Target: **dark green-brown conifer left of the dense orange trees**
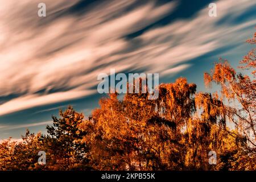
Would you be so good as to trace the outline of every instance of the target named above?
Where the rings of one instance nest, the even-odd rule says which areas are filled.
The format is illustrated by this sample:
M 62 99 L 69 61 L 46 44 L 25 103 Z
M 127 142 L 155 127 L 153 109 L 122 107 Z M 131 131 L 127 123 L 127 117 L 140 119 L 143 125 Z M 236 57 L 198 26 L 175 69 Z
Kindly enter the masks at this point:
M 49 156 L 49 169 L 89 169 L 88 147 L 81 143 L 87 131 L 79 130 L 84 115 L 77 113 L 71 106 L 60 110 L 60 117 L 52 116 L 53 126 L 47 126 L 48 135 L 42 139 Z

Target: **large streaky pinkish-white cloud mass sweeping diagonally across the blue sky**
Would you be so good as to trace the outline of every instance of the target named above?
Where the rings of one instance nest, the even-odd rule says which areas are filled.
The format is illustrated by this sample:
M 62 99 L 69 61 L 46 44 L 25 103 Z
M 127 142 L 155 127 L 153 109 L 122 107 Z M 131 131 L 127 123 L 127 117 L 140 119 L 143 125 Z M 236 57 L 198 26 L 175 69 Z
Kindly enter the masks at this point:
M 133 7 L 135 1 L 101 2 L 78 16 L 71 9 L 80 1 L 46 0 L 46 18 L 37 16 L 40 1 L 3 2 L 0 97 L 5 102 L 0 115 L 94 94 L 90 89 L 97 85 L 97 75 L 110 68 L 174 75 L 193 64 L 187 61 L 244 40 L 247 28 L 256 24 L 255 19 L 218 24 L 254 5 L 225 0 L 216 2 L 217 18 L 208 16 L 206 6 L 189 19 L 152 26 L 129 39 L 127 35 L 174 12 L 179 1 L 162 6 L 150 1 L 138 7 Z

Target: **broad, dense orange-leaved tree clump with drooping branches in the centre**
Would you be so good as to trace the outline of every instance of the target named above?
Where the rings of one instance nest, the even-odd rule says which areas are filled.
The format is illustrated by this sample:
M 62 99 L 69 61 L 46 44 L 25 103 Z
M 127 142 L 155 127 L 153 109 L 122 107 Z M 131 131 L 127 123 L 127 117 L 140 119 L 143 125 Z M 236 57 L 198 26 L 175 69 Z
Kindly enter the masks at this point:
M 158 100 L 148 100 L 147 93 L 102 98 L 100 108 L 80 125 L 90 131 L 82 142 L 90 146 L 93 168 L 215 169 L 209 167 L 208 152 L 221 155 L 228 137 L 222 102 L 195 93 L 195 84 L 179 78 L 159 85 Z

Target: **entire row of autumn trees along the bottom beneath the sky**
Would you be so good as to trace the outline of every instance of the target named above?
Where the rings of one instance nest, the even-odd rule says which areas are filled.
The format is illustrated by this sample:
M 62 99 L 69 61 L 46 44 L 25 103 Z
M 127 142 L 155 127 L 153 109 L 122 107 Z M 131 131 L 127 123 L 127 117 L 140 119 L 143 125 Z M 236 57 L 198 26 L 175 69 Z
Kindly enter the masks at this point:
M 52 116 L 47 134 L 27 131 L 22 142 L 0 143 L 0 170 L 255 170 L 255 48 L 241 64 L 251 75 L 221 59 L 205 73 L 207 86 L 220 85 L 213 94 L 181 77 L 160 84 L 156 100 L 113 93 L 88 117 L 69 106 Z M 46 165 L 38 164 L 39 151 Z

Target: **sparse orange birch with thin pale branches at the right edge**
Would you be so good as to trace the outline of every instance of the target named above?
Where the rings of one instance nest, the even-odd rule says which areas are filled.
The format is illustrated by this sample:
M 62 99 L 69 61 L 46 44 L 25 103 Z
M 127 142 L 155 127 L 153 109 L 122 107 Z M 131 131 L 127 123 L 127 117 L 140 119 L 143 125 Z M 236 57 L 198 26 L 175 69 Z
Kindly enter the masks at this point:
M 253 39 L 247 40 L 255 44 Z M 240 62 L 246 64 L 240 68 L 254 69 L 252 75 L 255 77 L 255 48 L 252 49 Z M 225 102 L 221 106 L 226 118 L 233 122 L 238 133 L 230 133 L 243 143 L 232 162 L 233 169 L 255 170 L 256 159 L 256 81 L 250 76 L 236 73 L 228 61 L 221 60 L 216 63 L 211 73 L 205 73 L 205 83 L 209 86 L 211 82 L 221 86 L 221 100 Z M 246 143 L 245 143 L 246 142 Z

